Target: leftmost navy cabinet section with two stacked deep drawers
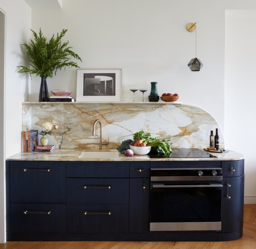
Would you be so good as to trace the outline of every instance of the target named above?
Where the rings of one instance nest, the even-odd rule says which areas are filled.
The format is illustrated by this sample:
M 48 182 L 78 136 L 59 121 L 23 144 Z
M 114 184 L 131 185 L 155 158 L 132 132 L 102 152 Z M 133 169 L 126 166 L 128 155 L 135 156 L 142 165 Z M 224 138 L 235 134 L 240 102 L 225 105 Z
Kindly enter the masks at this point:
M 66 233 L 66 163 L 6 165 L 7 234 L 33 240 L 35 233 Z

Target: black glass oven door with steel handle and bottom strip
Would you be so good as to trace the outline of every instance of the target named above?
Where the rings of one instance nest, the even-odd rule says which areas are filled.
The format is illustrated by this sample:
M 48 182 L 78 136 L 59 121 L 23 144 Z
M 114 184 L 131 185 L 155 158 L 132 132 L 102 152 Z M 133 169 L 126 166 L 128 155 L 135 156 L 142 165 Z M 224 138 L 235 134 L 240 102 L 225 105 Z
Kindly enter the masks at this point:
M 150 231 L 221 230 L 222 182 L 153 182 Z

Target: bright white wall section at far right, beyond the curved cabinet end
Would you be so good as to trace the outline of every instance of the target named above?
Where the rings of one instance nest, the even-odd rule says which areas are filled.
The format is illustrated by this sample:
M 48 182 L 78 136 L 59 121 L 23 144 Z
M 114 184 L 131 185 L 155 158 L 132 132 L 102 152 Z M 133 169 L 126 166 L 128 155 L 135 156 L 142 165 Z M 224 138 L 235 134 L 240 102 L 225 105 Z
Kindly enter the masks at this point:
M 225 23 L 226 146 L 245 155 L 245 202 L 256 203 L 256 10 L 228 10 Z

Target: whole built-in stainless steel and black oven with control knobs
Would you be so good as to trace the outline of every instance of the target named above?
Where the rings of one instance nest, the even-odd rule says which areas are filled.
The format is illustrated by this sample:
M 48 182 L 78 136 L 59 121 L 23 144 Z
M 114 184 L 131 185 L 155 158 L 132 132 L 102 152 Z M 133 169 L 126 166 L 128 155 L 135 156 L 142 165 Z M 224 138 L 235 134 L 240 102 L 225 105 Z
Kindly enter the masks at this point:
M 221 230 L 222 168 L 151 168 L 150 231 Z

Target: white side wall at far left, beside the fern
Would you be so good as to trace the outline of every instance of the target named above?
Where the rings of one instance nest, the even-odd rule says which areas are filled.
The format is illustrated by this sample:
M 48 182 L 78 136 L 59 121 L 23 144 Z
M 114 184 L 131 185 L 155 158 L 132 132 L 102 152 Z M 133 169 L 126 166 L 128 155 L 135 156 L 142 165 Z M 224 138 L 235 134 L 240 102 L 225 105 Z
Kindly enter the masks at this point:
M 21 103 L 25 101 L 29 81 L 17 71 L 23 63 L 20 44 L 28 41 L 31 28 L 31 9 L 24 0 L 0 0 L 0 9 L 6 13 L 5 65 L 5 156 L 21 151 Z M 0 59 L 1 60 L 1 59 Z M 1 116 L 1 119 L 3 116 Z M 3 153 L 1 153 L 2 155 Z M 0 243 L 5 241 L 5 158 L 0 158 Z

